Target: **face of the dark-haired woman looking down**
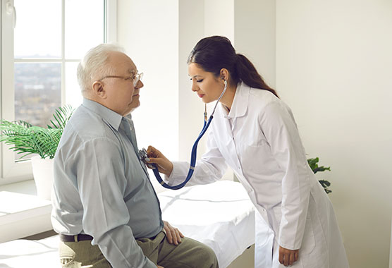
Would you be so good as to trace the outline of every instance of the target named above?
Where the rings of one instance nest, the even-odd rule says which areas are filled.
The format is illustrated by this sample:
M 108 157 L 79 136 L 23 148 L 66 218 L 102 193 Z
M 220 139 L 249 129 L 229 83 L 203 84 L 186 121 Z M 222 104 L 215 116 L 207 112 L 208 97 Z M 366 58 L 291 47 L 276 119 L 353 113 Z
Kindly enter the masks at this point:
M 219 99 L 224 84 L 214 73 L 204 71 L 197 63 L 188 65 L 188 74 L 192 80 L 192 91 L 197 93 L 203 102 L 209 103 Z

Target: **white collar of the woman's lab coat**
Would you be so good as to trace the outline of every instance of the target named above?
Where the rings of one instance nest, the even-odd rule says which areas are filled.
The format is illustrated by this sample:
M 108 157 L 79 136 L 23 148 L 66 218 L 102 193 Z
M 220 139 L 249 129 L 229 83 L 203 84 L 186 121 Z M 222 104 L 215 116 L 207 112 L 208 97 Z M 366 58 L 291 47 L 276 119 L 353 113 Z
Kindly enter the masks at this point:
M 247 111 L 247 102 L 249 100 L 250 87 L 244 83 L 238 83 L 237 90 L 235 90 L 235 95 L 233 99 L 233 104 L 231 104 L 230 112 L 227 114 L 226 107 L 222 107 L 223 111 L 226 111 L 225 118 L 231 119 L 235 117 L 244 116 Z M 223 106 L 223 104 L 221 104 Z

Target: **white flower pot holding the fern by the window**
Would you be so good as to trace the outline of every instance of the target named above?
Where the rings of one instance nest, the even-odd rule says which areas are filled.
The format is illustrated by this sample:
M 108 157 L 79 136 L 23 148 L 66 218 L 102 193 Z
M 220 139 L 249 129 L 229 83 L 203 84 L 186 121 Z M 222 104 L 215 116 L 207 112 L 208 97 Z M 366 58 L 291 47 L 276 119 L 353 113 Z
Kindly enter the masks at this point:
M 32 175 L 34 176 L 37 195 L 46 200 L 50 200 L 51 188 L 53 188 L 53 160 L 32 157 Z

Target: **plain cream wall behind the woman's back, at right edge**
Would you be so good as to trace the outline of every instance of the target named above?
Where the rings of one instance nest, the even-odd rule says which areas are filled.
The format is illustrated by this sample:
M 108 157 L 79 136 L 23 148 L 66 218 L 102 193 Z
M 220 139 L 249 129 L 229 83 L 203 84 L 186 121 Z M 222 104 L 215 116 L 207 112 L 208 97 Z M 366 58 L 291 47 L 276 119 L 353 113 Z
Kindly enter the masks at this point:
M 392 1 L 276 2 L 276 88 L 331 172 L 350 266 L 388 267 Z

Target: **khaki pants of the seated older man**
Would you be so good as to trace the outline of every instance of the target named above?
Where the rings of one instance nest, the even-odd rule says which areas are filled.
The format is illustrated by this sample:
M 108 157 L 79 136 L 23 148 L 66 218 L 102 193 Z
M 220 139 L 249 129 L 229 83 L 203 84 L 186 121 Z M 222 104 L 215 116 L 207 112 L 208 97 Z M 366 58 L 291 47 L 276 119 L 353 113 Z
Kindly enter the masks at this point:
M 153 238 L 137 239 L 143 253 L 154 264 L 164 268 L 218 268 L 214 251 L 203 243 L 182 238 L 178 245 L 170 244 L 161 231 Z M 91 241 L 60 242 L 60 260 L 63 268 L 110 268 L 97 245 Z

